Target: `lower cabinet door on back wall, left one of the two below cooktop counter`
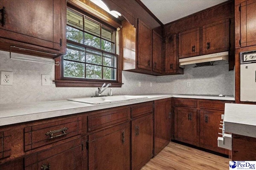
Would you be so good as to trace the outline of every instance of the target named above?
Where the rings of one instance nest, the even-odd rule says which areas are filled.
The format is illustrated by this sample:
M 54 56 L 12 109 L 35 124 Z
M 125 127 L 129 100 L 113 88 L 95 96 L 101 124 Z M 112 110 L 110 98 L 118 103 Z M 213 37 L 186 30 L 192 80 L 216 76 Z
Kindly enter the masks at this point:
M 188 107 L 175 107 L 174 139 L 196 145 L 196 123 L 196 109 Z

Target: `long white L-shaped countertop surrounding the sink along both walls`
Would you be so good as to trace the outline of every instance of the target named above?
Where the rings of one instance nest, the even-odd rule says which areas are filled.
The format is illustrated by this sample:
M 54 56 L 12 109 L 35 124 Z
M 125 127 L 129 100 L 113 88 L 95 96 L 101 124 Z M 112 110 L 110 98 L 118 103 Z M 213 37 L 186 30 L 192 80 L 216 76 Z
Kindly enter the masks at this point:
M 29 102 L 18 104 L 1 104 L 0 126 L 22 123 L 26 121 L 34 121 L 39 119 L 46 119 L 51 117 L 58 117 L 63 115 L 71 115 L 74 113 L 107 109 L 111 107 L 125 106 L 142 102 L 149 102 L 153 100 L 160 100 L 172 97 L 211 100 L 234 100 L 234 97 L 180 96 L 177 94 L 142 94 L 140 96 L 147 96 L 148 98 L 97 105 L 72 102 L 68 100 Z

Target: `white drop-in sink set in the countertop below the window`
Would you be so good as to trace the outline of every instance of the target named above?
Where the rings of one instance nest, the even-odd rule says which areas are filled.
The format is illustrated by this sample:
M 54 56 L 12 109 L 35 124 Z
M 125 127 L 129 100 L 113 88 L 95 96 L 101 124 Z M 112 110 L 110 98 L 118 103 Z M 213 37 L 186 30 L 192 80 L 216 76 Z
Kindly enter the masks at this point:
M 104 103 L 112 103 L 112 102 L 122 102 L 127 100 L 136 100 L 136 99 L 144 99 L 148 98 L 147 96 L 103 96 L 98 98 L 71 98 L 67 99 L 74 102 L 88 103 L 88 104 L 104 104 Z

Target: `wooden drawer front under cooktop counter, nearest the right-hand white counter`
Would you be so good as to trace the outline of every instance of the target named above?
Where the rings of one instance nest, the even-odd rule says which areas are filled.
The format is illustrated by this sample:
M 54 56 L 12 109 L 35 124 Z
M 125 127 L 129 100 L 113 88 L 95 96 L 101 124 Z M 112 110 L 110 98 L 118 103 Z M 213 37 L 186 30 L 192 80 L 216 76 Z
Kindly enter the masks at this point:
M 225 103 L 233 103 L 232 101 L 200 101 L 200 109 L 222 110 L 224 111 Z

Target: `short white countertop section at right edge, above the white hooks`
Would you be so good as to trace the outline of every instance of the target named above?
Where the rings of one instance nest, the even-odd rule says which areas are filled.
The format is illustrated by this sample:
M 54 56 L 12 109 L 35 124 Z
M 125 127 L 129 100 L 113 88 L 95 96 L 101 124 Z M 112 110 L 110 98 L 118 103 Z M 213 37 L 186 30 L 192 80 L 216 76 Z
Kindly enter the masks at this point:
M 225 104 L 225 132 L 256 138 L 256 105 Z

